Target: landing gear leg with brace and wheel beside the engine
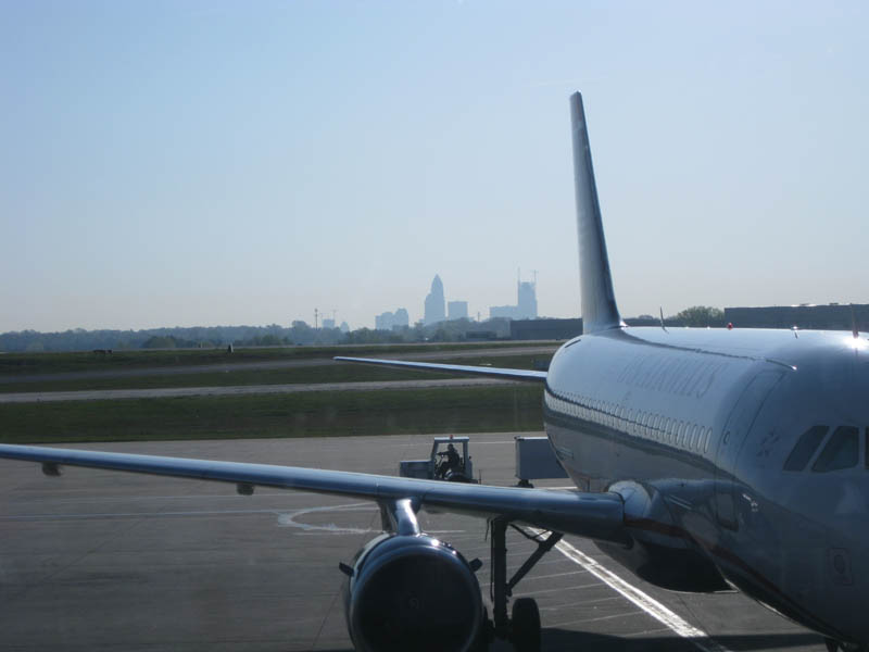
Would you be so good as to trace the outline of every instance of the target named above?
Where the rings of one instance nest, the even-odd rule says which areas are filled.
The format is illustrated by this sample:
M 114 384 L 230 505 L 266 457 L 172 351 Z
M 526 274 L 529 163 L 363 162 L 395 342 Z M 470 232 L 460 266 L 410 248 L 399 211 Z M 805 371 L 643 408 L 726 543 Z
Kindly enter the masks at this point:
M 537 543 L 537 550 L 507 580 L 507 526 Z M 492 630 L 495 638 L 509 640 L 516 652 L 540 652 L 540 611 L 533 598 L 519 598 L 513 605 L 513 617 L 507 617 L 507 601 L 513 589 L 552 548 L 561 541 L 561 532 L 550 532 L 545 539 L 529 534 L 504 518 L 494 518 L 492 527 Z

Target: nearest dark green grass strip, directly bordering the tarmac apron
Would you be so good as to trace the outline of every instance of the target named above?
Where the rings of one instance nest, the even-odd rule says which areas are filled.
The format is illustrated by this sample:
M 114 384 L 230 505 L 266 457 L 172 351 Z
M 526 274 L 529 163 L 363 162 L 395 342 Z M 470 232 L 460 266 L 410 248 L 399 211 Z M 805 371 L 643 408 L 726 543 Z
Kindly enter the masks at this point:
M 539 430 L 542 387 L 504 385 L 0 404 L 0 441 L 59 443 Z

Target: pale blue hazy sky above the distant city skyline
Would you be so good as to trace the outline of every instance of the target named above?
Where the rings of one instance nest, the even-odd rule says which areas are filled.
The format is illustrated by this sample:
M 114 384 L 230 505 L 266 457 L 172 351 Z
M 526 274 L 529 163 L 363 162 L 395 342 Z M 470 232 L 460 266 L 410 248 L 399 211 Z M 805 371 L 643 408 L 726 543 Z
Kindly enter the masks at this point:
M 0 1 L 0 331 L 869 302 L 865 2 Z

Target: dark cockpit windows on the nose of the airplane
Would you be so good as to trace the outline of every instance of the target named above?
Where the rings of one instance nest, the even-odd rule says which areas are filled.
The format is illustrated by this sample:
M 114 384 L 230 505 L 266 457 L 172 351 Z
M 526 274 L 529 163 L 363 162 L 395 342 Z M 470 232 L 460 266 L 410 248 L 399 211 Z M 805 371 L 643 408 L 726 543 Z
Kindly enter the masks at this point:
M 860 430 L 856 426 L 839 426 L 830 437 L 827 432 L 830 426 L 811 426 L 801 435 L 794 450 L 784 461 L 784 471 L 803 471 L 815 459 L 811 471 L 827 473 L 843 468 L 854 468 L 860 462 Z M 823 441 L 823 447 L 817 457 L 815 453 Z M 866 428 L 864 453 L 866 467 L 869 468 L 869 428 Z

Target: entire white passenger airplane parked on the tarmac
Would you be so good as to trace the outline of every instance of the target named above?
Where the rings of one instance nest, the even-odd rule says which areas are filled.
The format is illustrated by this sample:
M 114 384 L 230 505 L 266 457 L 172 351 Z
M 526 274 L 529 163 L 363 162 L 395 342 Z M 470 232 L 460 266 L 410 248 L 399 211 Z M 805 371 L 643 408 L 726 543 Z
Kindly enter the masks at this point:
M 339 564 L 358 650 L 540 650 L 512 589 L 566 534 L 678 591 L 736 588 L 869 650 L 869 338 L 858 331 L 627 327 L 615 299 L 580 93 L 570 97 L 583 334 L 546 372 L 338 358 L 544 386 L 544 426 L 575 490 L 452 484 L 289 466 L 0 444 L 0 457 L 301 489 L 375 501 L 383 534 Z M 421 531 L 420 509 L 491 524 L 492 618 L 479 560 Z M 507 579 L 508 526 L 538 550 Z M 540 534 L 543 530 L 543 534 Z M 547 534 L 546 534 L 547 532 Z

